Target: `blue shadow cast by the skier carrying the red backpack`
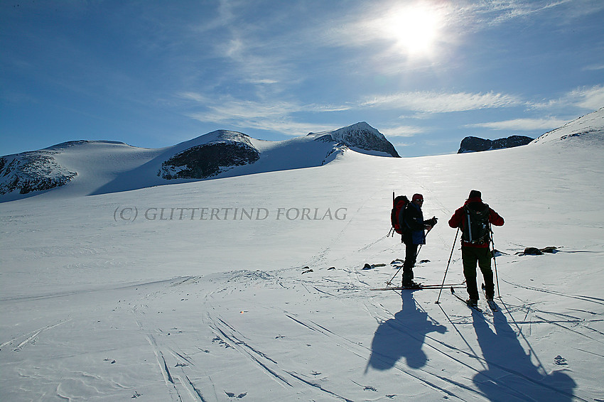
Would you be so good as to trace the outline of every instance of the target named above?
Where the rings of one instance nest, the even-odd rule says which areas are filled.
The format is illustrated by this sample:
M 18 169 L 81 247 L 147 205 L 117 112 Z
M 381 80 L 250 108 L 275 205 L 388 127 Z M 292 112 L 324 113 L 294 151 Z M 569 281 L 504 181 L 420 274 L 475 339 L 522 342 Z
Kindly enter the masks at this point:
M 413 293 L 402 292 L 403 308 L 393 318 L 382 322 L 375 331 L 367 369 L 392 369 L 400 359 L 414 369 L 426 365 L 426 353 L 421 349 L 426 334 L 446 332 L 446 327 L 429 319 L 428 313 L 416 305 Z

